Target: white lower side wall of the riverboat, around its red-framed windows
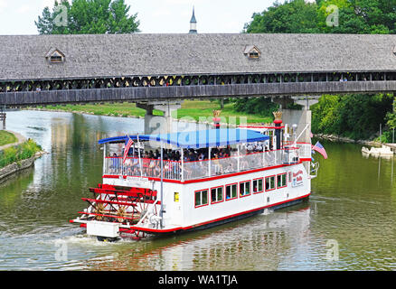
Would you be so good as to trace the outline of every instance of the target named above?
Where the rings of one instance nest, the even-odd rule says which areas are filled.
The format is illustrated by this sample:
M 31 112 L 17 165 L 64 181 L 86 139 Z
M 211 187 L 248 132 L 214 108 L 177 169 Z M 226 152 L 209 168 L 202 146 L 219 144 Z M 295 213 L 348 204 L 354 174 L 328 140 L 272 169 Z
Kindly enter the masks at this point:
M 266 178 L 286 174 L 286 183 L 275 188 L 266 190 Z M 253 181 L 262 180 L 262 190 L 253 191 Z M 250 193 L 240 195 L 240 183 L 248 182 Z M 257 182 L 257 181 L 256 181 Z M 105 178 L 103 183 L 115 186 L 128 187 L 136 185 L 130 178 Z M 226 187 L 237 184 L 237 196 L 227 199 Z M 160 191 L 161 183 L 152 182 L 152 190 Z M 259 213 L 266 208 L 279 208 L 292 205 L 298 201 L 306 199 L 310 194 L 310 178 L 303 163 L 280 166 L 278 168 L 266 168 L 255 170 L 254 172 L 238 173 L 231 176 L 218 176 L 207 180 L 197 180 L 196 182 L 164 182 L 164 204 L 162 228 L 158 222 L 146 221 L 138 224 L 134 228 L 149 233 L 166 233 L 170 231 L 185 231 L 193 228 L 207 228 L 218 223 L 224 223 L 234 219 L 248 217 Z M 222 188 L 221 200 L 211 200 L 211 191 L 215 188 Z M 207 191 L 208 200 L 203 204 L 195 203 L 195 192 Z M 177 194 L 177 199 L 175 198 Z M 159 210 L 159 205 L 157 210 Z

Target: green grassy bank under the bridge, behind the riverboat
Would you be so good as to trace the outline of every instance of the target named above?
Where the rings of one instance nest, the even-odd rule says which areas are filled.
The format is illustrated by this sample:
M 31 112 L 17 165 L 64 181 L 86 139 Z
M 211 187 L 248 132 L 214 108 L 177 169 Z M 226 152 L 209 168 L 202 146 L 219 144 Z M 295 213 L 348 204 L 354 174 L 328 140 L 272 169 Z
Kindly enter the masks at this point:
M 67 112 L 89 113 L 97 116 L 114 116 L 114 117 L 144 117 L 146 110 L 136 107 L 134 103 L 114 103 L 103 105 L 66 105 L 66 106 L 47 106 L 42 107 L 45 110 L 61 110 Z M 182 107 L 174 112 L 173 117 L 176 119 L 193 118 L 198 121 L 200 117 L 206 117 L 207 121 L 212 122 L 212 111 L 214 109 L 221 109 L 218 101 L 209 100 L 184 100 Z M 240 117 L 246 117 L 249 124 L 269 123 L 272 122 L 272 117 L 262 117 L 254 114 L 236 112 L 233 108 L 233 103 L 227 103 L 221 109 L 221 117 L 225 118 L 226 122 L 233 121 L 230 117 L 236 117 L 237 124 L 240 123 Z M 153 112 L 156 116 L 161 116 L 161 111 L 155 110 Z M 202 120 L 202 119 L 201 119 Z M 243 120 L 242 120 L 243 121 Z

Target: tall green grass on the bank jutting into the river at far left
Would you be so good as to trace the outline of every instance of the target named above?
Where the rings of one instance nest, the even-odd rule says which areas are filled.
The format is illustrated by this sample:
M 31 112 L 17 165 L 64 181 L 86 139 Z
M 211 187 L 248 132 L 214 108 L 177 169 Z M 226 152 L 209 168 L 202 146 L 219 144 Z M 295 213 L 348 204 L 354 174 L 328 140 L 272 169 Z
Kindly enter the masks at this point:
M 42 147 L 32 139 L 25 141 L 23 144 L 7 147 L 0 151 L 0 169 L 8 164 L 29 159 L 41 151 Z

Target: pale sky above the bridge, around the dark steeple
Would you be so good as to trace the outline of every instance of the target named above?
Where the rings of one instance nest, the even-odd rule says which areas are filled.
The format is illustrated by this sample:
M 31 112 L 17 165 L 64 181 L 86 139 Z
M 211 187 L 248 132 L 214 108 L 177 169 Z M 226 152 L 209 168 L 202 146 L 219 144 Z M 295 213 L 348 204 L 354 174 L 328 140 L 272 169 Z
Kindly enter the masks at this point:
M 34 21 L 54 0 L 0 0 L 0 34 L 38 34 Z M 70 0 L 71 2 L 71 0 Z M 188 33 L 195 8 L 198 33 L 240 33 L 253 13 L 275 0 L 125 0 L 141 33 Z M 283 1 L 279 1 L 283 2 Z

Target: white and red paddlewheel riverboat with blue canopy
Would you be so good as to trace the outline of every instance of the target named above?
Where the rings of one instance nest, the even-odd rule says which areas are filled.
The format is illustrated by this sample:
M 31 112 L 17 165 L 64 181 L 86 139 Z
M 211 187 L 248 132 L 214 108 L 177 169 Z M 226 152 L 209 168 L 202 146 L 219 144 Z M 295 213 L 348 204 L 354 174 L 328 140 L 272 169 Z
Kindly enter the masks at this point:
M 103 183 L 72 223 L 99 240 L 209 228 L 306 200 L 311 144 L 288 125 L 122 135 L 103 144 Z M 127 154 L 124 154 L 127 146 Z M 312 170 L 312 171 L 311 171 Z

